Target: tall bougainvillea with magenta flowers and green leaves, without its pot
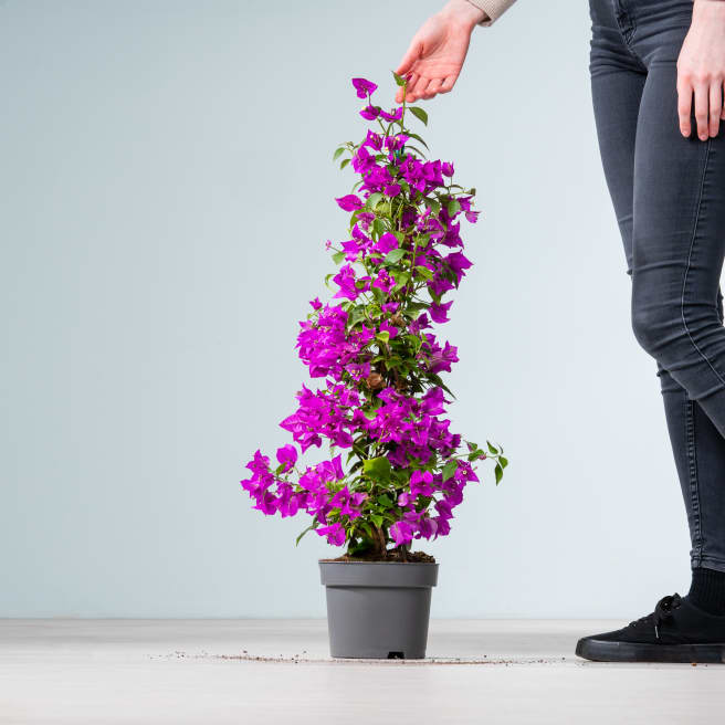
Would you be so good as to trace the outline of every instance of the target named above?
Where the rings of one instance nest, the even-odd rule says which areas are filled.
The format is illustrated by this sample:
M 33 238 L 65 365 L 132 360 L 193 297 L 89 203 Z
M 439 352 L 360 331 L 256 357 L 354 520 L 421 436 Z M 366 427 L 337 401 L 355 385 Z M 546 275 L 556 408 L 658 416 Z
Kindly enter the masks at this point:
M 359 177 L 335 199 L 349 213 L 349 239 L 327 241 L 339 270 L 325 284 L 335 294 L 309 302 L 295 346 L 322 385 L 302 385 L 297 410 L 280 423 L 294 443 L 277 449 L 275 465 L 258 450 L 241 485 L 266 515 L 312 516 L 297 544 L 314 530 L 350 557 L 385 559 L 392 544 L 406 560 L 413 539 L 450 532 L 463 488 L 479 481 L 476 461 L 495 462 L 497 484 L 507 460 L 487 441 L 485 450 L 462 441 L 444 418 L 445 393 L 455 396 L 440 374 L 458 348 L 441 345 L 433 323 L 448 322 L 444 297 L 472 265 L 458 220 L 480 212 L 475 189 L 453 183 L 453 164 L 427 159 L 406 122 L 428 125 L 428 115 L 406 105 L 407 78 L 393 76 L 403 96 L 390 113 L 372 103 L 375 83 L 353 78 L 372 128 L 334 154 Z M 298 453 L 323 441 L 330 458 L 303 470 Z

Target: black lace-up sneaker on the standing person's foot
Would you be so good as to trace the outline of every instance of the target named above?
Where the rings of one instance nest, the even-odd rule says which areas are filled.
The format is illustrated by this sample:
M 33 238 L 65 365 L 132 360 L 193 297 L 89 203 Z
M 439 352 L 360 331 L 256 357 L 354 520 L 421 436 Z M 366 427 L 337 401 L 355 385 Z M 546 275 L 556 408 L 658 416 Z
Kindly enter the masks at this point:
M 725 617 L 675 593 L 623 629 L 580 639 L 576 651 L 599 662 L 725 662 Z

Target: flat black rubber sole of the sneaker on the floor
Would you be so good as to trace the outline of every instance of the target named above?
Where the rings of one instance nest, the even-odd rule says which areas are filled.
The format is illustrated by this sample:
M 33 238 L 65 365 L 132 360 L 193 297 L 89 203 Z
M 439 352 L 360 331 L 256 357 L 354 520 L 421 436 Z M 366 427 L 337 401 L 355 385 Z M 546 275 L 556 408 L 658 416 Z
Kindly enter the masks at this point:
M 645 644 L 581 639 L 576 653 L 595 662 L 725 663 L 725 644 Z

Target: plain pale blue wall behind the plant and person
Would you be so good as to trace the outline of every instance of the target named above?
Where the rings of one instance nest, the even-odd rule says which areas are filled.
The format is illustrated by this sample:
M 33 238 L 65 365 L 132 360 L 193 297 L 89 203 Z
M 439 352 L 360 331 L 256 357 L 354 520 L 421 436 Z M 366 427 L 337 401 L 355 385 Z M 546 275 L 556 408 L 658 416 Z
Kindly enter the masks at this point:
M 330 162 L 435 0 L 0 3 L 0 616 L 324 616 L 317 537 L 239 481 L 346 239 Z M 443 338 L 482 466 L 434 617 L 639 616 L 686 587 L 654 362 L 600 168 L 586 3 L 521 0 L 423 102 L 479 190 Z M 327 295 L 330 293 L 328 292 Z

